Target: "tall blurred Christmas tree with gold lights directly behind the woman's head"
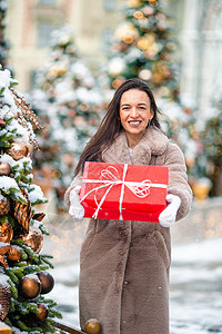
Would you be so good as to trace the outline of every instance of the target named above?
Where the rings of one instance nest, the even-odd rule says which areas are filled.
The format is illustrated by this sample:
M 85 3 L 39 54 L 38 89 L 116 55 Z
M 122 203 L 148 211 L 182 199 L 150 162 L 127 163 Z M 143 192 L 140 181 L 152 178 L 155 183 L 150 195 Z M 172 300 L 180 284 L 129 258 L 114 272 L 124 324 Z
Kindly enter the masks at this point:
M 195 173 L 199 134 L 195 105 L 180 94 L 179 70 L 173 59 L 176 41 L 165 1 L 127 0 L 123 21 L 117 27 L 110 47 L 107 89 L 125 79 L 139 78 L 153 91 L 162 111 L 161 125 L 182 148 L 190 175 Z

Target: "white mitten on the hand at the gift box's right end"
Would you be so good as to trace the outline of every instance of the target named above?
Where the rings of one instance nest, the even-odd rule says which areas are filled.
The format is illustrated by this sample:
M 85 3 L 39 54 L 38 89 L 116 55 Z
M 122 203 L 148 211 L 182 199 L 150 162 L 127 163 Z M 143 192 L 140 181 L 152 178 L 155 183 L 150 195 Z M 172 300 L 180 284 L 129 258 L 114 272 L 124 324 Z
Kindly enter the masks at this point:
M 169 194 L 165 197 L 167 199 L 167 208 L 160 214 L 159 223 L 163 227 L 170 227 L 175 223 L 175 216 L 178 209 L 181 205 L 181 199 L 179 196 Z

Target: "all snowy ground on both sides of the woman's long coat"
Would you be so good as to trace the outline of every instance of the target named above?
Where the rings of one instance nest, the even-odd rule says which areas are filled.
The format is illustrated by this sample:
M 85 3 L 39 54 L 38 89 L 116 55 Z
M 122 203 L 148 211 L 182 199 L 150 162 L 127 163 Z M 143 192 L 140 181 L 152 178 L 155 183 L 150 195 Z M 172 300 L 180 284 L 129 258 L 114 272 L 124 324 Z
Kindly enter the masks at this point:
M 222 333 L 222 238 L 172 247 L 170 285 L 171 334 Z M 57 265 L 49 294 L 63 322 L 79 327 L 79 263 Z

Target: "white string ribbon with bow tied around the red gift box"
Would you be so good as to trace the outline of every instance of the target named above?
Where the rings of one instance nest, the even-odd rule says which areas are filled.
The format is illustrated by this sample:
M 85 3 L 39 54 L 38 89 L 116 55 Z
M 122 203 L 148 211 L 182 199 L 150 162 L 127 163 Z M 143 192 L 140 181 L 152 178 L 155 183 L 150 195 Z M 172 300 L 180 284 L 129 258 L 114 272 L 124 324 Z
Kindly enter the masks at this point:
M 123 202 L 123 196 L 124 196 L 124 187 L 130 189 L 137 197 L 140 197 L 140 198 L 147 197 L 150 194 L 151 187 L 155 187 L 155 188 L 167 188 L 168 187 L 164 184 L 152 184 L 151 180 L 149 180 L 149 179 L 144 179 L 141 183 L 125 181 L 127 170 L 128 170 L 128 164 L 124 164 L 123 175 L 122 175 L 122 179 L 121 179 L 119 176 L 118 169 L 113 166 L 109 166 L 105 169 L 102 169 L 100 179 L 83 179 L 82 180 L 82 183 L 85 183 L 85 184 L 90 184 L 90 183 L 102 184 L 101 186 L 98 186 L 98 187 L 91 189 L 90 191 L 88 191 L 80 200 L 80 202 L 84 200 L 84 198 L 87 198 L 91 193 L 94 191 L 94 203 L 97 205 L 97 209 L 95 209 L 92 218 L 97 219 L 99 210 L 100 210 L 102 204 L 104 203 L 109 191 L 112 189 L 112 187 L 114 187 L 117 185 L 122 185 L 121 191 L 120 191 L 120 202 L 119 202 L 119 212 L 120 212 L 119 219 L 120 220 L 123 219 L 122 218 L 122 202 Z M 107 187 L 107 190 L 105 190 L 104 195 L 102 196 L 100 202 L 98 202 L 97 191 L 102 188 L 105 188 L 105 187 Z

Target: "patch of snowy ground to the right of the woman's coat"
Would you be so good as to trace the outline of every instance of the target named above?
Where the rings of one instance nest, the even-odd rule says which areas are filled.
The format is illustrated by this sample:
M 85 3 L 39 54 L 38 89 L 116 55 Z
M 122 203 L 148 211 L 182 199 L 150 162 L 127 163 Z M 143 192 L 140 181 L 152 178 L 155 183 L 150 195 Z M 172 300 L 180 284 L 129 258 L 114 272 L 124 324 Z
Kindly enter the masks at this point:
M 174 246 L 171 334 L 222 333 L 222 238 Z

